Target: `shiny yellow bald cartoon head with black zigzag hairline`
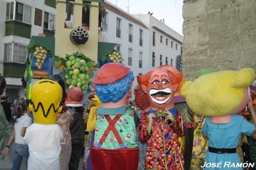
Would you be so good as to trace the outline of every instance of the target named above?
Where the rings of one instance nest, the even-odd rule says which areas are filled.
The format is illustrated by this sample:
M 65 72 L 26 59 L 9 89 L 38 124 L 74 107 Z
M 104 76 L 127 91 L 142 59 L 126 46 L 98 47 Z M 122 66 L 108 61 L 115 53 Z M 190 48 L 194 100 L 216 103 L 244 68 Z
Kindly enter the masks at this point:
M 61 112 L 62 88 L 50 79 L 35 82 L 31 89 L 29 109 L 33 112 L 34 122 L 38 124 L 55 124 Z

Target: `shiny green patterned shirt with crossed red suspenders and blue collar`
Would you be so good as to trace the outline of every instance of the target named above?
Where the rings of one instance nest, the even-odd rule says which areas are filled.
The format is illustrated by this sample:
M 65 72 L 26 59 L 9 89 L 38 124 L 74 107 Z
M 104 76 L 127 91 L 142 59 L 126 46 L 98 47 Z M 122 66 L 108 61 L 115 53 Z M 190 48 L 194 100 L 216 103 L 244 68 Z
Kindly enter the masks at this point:
M 115 117 L 116 119 L 114 119 Z M 112 122 L 115 123 L 114 126 L 109 127 L 107 119 L 115 121 Z M 98 107 L 93 146 L 103 149 L 137 148 L 135 129 L 137 121 L 139 121 L 137 114 L 126 105 L 117 108 Z M 105 131 L 109 133 L 106 134 Z M 104 133 L 107 137 L 99 143 Z M 114 133 L 118 133 L 118 135 L 114 135 Z M 118 142 L 119 136 L 121 140 Z

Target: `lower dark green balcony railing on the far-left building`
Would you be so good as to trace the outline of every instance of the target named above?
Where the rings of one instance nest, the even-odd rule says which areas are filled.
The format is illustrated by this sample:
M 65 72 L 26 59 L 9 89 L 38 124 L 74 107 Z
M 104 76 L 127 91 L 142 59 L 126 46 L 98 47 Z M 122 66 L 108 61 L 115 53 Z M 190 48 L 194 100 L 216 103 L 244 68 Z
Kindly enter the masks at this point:
M 3 77 L 22 78 L 25 70 L 25 64 L 4 63 Z

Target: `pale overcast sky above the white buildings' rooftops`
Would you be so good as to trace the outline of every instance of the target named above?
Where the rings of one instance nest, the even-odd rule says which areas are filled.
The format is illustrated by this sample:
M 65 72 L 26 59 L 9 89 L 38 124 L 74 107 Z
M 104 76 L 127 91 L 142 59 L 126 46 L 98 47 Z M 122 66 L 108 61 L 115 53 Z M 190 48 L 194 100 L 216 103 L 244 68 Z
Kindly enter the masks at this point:
M 107 0 L 127 12 L 128 0 Z M 182 5 L 183 0 L 129 0 L 130 14 L 147 14 L 153 12 L 157 19 L 163 19 L 164 23 L 182 34 Z M 158 2 L 158 3 L 156 3 Z

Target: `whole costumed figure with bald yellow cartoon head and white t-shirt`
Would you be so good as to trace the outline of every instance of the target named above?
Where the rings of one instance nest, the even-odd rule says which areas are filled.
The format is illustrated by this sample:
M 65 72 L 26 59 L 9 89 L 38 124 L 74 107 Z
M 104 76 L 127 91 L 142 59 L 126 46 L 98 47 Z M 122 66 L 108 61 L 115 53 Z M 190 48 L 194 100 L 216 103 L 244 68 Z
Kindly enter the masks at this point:
M 51 79 L 41 79 L 31 88 L 29 104 L 34 123 L 24 140 L 29 146 L 28 170 L 60 170 L 62 129 L 56 124 L 62 111 L 62 88 Z

